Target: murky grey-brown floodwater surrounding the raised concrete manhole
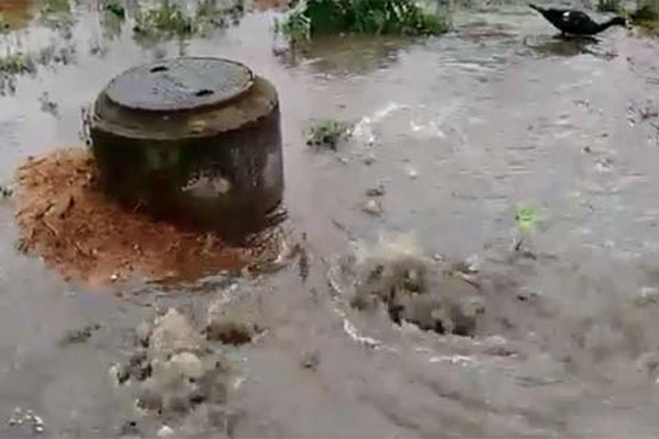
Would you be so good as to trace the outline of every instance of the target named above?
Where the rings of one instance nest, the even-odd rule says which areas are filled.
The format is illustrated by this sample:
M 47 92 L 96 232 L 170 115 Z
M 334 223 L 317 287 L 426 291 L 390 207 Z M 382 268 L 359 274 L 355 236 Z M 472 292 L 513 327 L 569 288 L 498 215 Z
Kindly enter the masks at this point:
M 1 181 L 27 156 L 79 144 L 80 108 L 135 64 L 222 56 L 270 79 L 287 227 L 306 234 L 310 272 L 301 279 L 291 263 L 256 279 L 88 291 L 14 248 L 3 202 L 0 436 L 34 435 L 2 419 L 14 407 L 38 414 L 46 437 L 155 435 L 164 421 L 135 408 L 110 367 L 143 319 L 168 306 L 201 319 L 216 301 L 243 303 L 266 330 L 226 348 L 237 371 L 227 410 L 238 415 L 231 428 L 197 425 L 199 436 L 657 436 L 658 43 L 622 29 L 596 44 L 561 42 L 510 7 L 459 14 L 442 37 L 344 37 L 291 60 L 273 54 L 273 16 L 250 13 L 186 44 L 138 44 L 129 24 L 76 2 L 65 24 L 2 35 L 2 50 L 65 56 L 1 98 Z M 314 153 L 303 135 L 313 117 L 358 130 L 337 153 Z M 360 205 L 380 183 L 383 213 L 368 215 Z M 535 259 L 511 252 L 520 203 L 544 219 L 529 240 Z M 350 239 L 382 232 L 414 233 L 426 255 L 477 260 L 485 329 L 439 336 L 351 309 L 349 285 L 332 289 L 327 272 Z M 100 327 L 85 342 L 62 344 L 89 324 Z

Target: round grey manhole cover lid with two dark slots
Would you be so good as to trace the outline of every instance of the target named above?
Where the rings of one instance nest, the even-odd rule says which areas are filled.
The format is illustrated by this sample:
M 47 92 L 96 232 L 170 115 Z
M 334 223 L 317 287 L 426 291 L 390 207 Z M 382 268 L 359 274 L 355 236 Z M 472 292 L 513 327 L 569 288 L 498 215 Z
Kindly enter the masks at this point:
M 134 110 L 192 110 L 233 99 L 253 82 L 252 70 L 236 61 L 178 58 L 124 71 L 105 93 L 116 104 Z

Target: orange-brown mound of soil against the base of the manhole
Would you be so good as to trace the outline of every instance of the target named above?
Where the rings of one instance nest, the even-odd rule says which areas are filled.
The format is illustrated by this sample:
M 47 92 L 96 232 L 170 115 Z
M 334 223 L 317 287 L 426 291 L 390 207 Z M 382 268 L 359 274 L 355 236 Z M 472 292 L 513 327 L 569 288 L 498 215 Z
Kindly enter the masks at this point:
M 231 247 L 211 233 L 191 233 L 125 210 L 96 185 L 85 148 L 29 159 L 18 170 L 20 248 L 41 255 L 68 279 L 92 285 L 146 278 L 194 279 L 257 267 L 279 254 L 268 232 L 254 247 Z

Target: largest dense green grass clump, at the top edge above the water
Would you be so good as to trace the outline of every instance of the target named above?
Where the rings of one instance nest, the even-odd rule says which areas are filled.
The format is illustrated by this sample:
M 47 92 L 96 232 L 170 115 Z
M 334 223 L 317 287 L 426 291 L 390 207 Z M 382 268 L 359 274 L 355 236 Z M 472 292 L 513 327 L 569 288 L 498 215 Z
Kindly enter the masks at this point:
M 321 34 L 436 35 L 449 30 L 446 15 L 414 0 L 300 0 L 276 30 L 300 42 Z

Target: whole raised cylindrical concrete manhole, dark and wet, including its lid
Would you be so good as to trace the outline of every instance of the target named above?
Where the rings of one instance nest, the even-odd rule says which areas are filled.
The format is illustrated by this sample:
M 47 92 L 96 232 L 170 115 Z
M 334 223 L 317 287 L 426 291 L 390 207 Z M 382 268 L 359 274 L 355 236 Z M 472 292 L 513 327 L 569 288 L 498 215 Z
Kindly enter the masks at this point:
M 90 117 L 102 190 L 226 238 L 273 221 L 283 194 L 275 87 L 227 59 L 183 57 L 115 77 Z

